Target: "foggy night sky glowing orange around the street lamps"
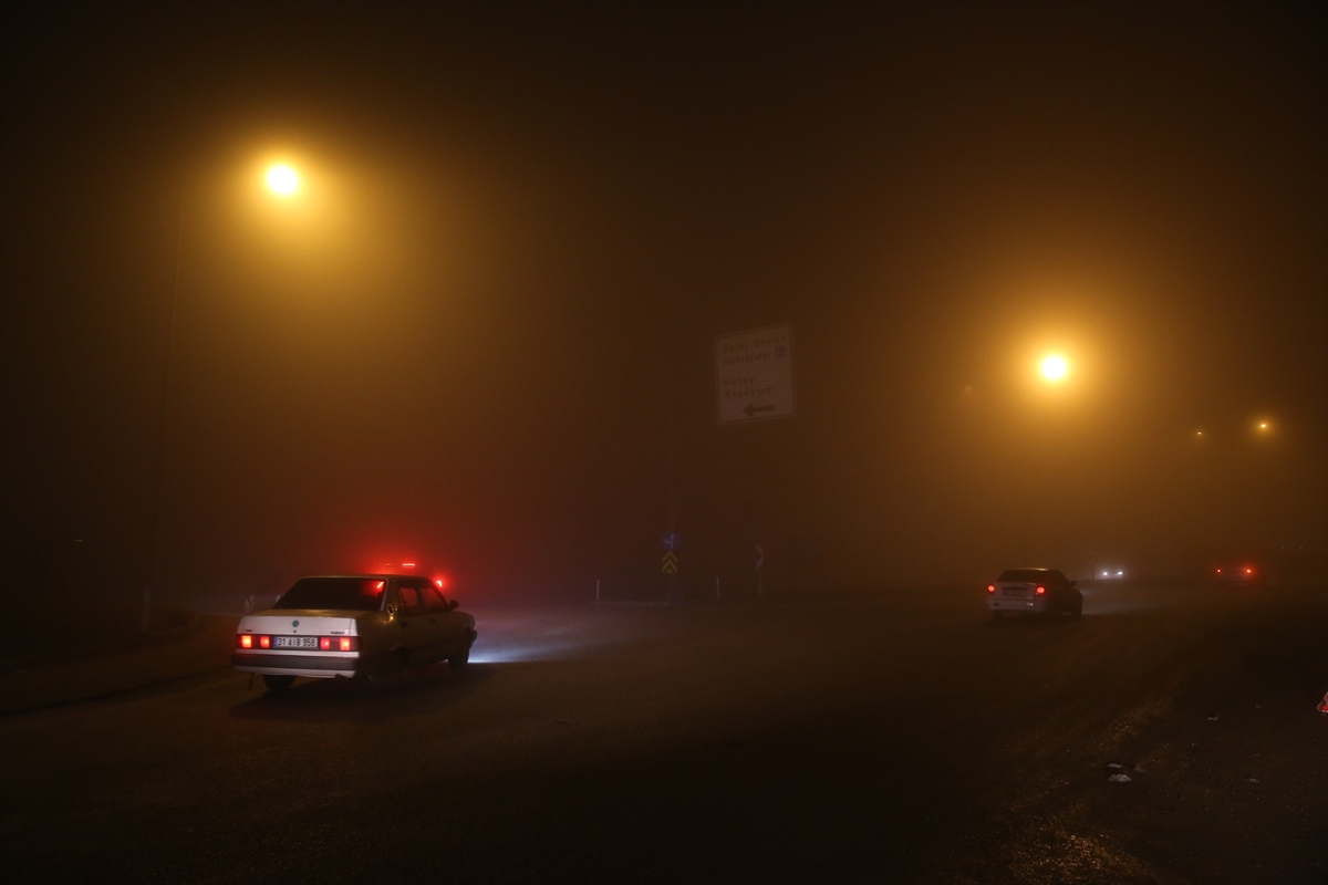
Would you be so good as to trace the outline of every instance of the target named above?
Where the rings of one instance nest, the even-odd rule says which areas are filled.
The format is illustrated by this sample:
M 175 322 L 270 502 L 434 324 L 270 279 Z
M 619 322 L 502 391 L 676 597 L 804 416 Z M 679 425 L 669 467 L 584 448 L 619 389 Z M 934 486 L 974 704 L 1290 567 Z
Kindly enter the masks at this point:
M 648 594 L 671 527 L 693 593 L 756 543 L 788 590 L 1321 563 L 1325 37 L 1271 3 L 7 4 L 7 594 L 151 580 L 177 259 L 166 597 L 401 561 Z M 718 426 L 714 337 L 785 324 L 798 414 Z

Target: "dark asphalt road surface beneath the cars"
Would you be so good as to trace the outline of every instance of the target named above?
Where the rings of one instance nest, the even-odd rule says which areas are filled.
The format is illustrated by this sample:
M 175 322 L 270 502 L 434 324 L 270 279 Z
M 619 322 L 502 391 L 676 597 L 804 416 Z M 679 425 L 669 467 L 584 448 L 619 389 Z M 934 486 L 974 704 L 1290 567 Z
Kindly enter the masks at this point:
M 463 677 L 275 698 L 223 671 L 5 716 L 3 869 L 1328 881 L 1328 588 L 1086 596 L 1080 621 L 976 593 L 471 609 Z

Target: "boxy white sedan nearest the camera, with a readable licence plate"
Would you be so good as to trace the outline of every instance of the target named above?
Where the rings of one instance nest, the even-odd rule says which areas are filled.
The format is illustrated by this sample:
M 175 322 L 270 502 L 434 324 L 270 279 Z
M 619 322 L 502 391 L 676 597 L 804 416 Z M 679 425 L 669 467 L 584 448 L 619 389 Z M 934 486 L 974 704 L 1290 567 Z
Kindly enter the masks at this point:
M 286 691 L 295 677 L 390 679 L 436 661 L 461 670 L 477 636 L 475 618 L 426 577 L 303 577 L 271 609 L 240 620 L 231 663 Z

